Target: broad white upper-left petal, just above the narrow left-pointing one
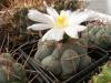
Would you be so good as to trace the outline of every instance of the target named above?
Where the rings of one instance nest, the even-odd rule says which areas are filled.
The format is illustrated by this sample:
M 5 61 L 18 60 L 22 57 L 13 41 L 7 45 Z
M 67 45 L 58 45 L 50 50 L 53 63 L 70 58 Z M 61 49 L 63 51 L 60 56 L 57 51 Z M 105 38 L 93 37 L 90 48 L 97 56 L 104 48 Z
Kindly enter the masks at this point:
M 28 18 L 32 21 L 42 22 L 42 23 L 51 23 L 51 19 L 46 17 L 48 14 L 41 13 L 36 9 L 29 10 Z

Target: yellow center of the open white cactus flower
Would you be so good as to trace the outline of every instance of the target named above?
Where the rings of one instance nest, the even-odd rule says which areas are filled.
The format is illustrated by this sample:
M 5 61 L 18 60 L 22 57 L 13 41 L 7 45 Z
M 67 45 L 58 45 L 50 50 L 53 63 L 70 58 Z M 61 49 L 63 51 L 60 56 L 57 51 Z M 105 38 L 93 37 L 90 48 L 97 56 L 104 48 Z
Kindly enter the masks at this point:
M 61 29 L 61 28 L 64 28 L 65 24 L 67 24 L 67 19 L 65 19 L 65 17 L 60 15 L 60 17 L 57 18 L 57 21 L 56 21 L 56 27 L 57 27 L 57 28 L 60 28 L 60 29 Z

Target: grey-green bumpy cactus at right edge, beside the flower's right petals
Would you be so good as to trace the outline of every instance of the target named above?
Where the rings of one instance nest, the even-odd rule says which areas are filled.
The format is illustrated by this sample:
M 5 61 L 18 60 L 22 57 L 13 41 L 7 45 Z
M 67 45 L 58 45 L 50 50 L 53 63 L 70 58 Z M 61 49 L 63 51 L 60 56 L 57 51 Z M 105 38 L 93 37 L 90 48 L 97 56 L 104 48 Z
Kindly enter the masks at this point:
M 87 37 L 89 43 L 97 44 L 105 50 L 110 50 L 111 45 L 111 25 L 110 24 L 88 24 L 88 31 L 83 37 Z

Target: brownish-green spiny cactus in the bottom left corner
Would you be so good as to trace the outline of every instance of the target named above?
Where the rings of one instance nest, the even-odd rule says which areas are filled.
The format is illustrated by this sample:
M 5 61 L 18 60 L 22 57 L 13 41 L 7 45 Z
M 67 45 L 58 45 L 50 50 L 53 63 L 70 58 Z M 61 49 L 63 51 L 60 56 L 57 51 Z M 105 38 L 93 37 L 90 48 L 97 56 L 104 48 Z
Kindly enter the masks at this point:
M 0 83 L 28 83 L 24 70 L 10 53 L 0 54 Z

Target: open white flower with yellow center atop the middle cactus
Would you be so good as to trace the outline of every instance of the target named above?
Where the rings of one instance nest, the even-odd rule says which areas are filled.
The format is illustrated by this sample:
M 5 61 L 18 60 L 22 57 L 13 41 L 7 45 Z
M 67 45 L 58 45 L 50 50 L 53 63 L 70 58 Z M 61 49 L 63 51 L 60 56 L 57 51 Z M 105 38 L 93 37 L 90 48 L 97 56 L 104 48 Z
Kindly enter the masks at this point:
M 89 14 L 83 11 L 77 10 L 71 12 L 70 10 L 62 10 L 60 14 L 52 8 L 47 7 L 47 12 L 41 13 L 34 9 L 29 10 L 28 17 L 30 20 L 37 21 L 39 23 L 28 27 L 32 30 L 46 30 L 50 29 L 42 38 L 44 40 L 56 40 L 60 41 L 63 39 L 64 32 L 73 38 L 78 39 L 78 32 L 83 31 L 87 27 L 80 25 L 81 22 L 87 21 Z

